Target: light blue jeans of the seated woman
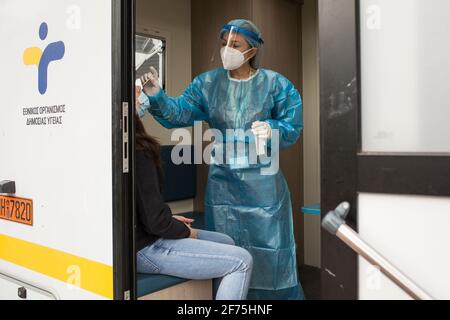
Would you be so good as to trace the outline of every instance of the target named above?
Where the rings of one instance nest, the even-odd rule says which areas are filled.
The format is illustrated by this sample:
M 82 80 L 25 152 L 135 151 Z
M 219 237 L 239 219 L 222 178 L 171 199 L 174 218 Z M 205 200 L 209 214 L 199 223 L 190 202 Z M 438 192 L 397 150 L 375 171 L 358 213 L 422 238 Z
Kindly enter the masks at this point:
M 159 239 L 137 254 L 139 273 L 214 280 L 216 300 L 245 300 L 253 258 L 227 235 L 198 230 L 198 239 Z

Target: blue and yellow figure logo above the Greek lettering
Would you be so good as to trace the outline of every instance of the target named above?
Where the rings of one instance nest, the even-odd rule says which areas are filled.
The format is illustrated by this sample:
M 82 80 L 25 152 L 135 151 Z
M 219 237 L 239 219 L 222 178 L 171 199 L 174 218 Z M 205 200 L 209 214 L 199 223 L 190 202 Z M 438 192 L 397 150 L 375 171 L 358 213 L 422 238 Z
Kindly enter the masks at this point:
M 39 38 L 44 41 L 48 36 L 48 25 L 43 22 L 39 28 Z M 66 47 L 64 42 L 58 41 L 50 43 L 44 52 L 38 47 L 32 47 L 25 50 L 23 62 L 27 66 L 37 66 L 39 93 L 44 95 L 47 92 L 48 67 L 51 62 L 62 60 Z

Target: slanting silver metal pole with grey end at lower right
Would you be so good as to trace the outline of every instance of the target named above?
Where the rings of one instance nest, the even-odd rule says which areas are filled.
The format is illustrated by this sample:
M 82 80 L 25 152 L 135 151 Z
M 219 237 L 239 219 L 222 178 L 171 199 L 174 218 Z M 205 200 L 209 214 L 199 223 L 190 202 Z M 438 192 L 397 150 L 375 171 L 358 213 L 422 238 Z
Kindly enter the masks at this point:
M 416 285 L 411 279 L 406 277 L 375 249 L 364 242 L 352 228 L 346 225 L 345 219 L 349 212 L 350 204 L 347 202 L 342 203 L 336 210 L 328 213 L 323 219 L 323 228 L 331 234 L 336 235 L 370 264 L 378 267 L 386 277 L 392 280 L 413 299 L 434 300 L 428 293 Z

